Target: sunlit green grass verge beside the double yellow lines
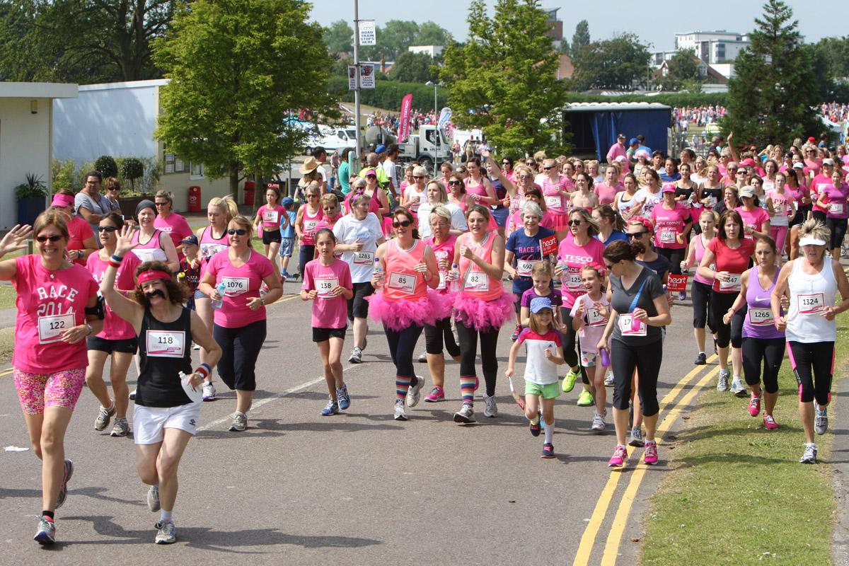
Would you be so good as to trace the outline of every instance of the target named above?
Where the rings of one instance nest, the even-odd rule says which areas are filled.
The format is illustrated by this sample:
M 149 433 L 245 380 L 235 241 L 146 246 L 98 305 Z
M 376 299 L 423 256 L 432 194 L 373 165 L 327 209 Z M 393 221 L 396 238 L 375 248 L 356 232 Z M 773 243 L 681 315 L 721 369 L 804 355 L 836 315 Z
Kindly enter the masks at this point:
M 839 376 L 849 361 L 849 313 L 837 323 Z M 651 500 L 642 564 L 832 563 L 833 473 L 827 463 L 799 463 L 798 399 L 786 357 L 778 430 L 751 417 L 746 399 L 713 388 L 699 396 L 683 429 L 664 443 L 674 446 L 672 472 Z M 828 461 L 832 440 L 830 433 L 817 437 L 819 459 Z

